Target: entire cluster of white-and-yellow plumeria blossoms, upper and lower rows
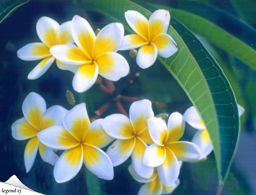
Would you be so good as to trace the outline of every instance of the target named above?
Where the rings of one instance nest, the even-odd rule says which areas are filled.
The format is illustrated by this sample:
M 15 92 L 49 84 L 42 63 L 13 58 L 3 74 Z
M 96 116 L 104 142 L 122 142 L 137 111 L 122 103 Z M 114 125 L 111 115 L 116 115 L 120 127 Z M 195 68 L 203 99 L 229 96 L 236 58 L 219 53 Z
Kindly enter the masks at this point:
M 27 44 L 17 52 L 22 60 L 42 59 L 28 79 L 39 78 L 56 59 L 60 69 L 74 73 L 74 90 L 84 92 L 98 75 L 111 81 L 128 75 L 128 62 L 116 53 L 118 50 L 140 47 L 136 62 L 142 69 L 151 66 L 157 55 L 170 57 L 178 50 L 167 34 L 168 11 L 157 10 L 146 19 L 141 13 L 129 10 L 125 18 L 136 34 L 124 36 L 123 25 L 111 23 L 95 35 L 88 21 L 77 15 L 62 25 L 48 17 L 40 18 L 36 31 L 41 43 Z M 69 103 L 74 105 L 70 93 L 67 91 Z M 238 108 L 241 115 L 243 108 Z M 85 103 L 69 111 L 58 105 L 47 109 L 44 99 L 31 92 L 23 102 L 22 111 L 24 117 L 13 123 L 12 135 L 17 140 L 30 139 L 24 152 L 27 172 L 39 149 L 41 158 L 54 165 L 54 178 L 59 183 L 74 178 L 82 164 L 99 178 L 111 180 L 113 166 L 131 157 L 130 174 L 145 183 L 139 195 L 169 194 L 180 183 L 182 162 L 199 161 L 213 150 L 195 107 L 190 107 L 183 116 L 172 113 L 166 124 L 165 119 L 155 117 L 151 101 L 144 99 L 132 103 L 129 117 L 115 113 L 91 123 Z M 199 129 L 192 142 L 179 141 L 185 121 Z M 102 148 L 106 146 L 105 152 Z M 58 150 L 63 151 L 60 157 L 55 153 Z

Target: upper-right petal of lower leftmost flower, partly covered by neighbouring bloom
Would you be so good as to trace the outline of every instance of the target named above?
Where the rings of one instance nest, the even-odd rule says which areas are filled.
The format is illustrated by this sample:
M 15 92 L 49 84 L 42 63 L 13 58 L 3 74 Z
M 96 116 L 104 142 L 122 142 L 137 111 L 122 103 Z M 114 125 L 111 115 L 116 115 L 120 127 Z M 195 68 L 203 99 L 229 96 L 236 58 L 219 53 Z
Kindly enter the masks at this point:
M 49 107 L 42 115 L 41 128 L 46 129 L 54 125 L 62 125 L 62 118 L 67 111 L 66 108 L 59 105 Z

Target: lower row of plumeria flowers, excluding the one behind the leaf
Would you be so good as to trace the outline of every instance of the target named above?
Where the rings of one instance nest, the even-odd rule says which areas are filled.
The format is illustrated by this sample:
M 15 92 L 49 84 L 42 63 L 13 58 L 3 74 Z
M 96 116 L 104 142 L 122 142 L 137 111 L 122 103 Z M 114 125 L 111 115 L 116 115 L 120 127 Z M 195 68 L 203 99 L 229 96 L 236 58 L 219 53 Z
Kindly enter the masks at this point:
M 54 165 L 56 182 L 72 179 L 83 163 L 96 176 L 111 180 L 113 165 L 131 156 L 132 176 L 148 182 L 140 193 L 154 186 L 153 191 L 162 194 L 179 183 L 178 161 L 201 157 L 195 144 L 177 141 L 184 131 L 182 115 L 171 114 L 167 127 L 164 120 L 154 117 L 151 101 L 146 99 L 132 103 L 130 118 L 112 114 L 92 123 L 85 103 L 69 111 L 58 105 L 46 109 L 44 99 L 34 92 L 27 95 L 22 110 L 25 117 L 13 123 L 12 134 L 18 140 L 31 138 L 24 152 L 26 170 L 31 169 L 39 148 L 42 159 Z M 106 153 L 101 150 L 114 140 Z M 58 157 L 54 150 L 64 152 Z

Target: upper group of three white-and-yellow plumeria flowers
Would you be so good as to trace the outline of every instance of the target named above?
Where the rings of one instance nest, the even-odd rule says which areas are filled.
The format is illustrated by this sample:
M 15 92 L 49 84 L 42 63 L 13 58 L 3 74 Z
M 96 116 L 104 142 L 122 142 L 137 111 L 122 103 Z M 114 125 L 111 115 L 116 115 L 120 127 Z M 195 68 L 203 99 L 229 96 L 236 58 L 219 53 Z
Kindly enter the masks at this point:
M 124 37 L 123 25 L 111 23 L 96 36 L 88 21 L 77 15 L 62 25 L 48 17 L 40 18 L 36 32 L 42 43 L 27 44 L 17 51 L 22 60 L 43 59 L 28 79 L 39 78 L 56 59 L 60 69 L 75 74 L 73 88 L 81 93 L 92 87 L 98 74 L 111 81 L 128 75 L 128 62 L 116 53 L 118 50 L 141 47 L 137 55 L 141 68 L 151 66 L 157 54 L 169 57 L 178 50 L 175 41 L 166 34 L 170 21 L 168 11 L 157 10 L 149 21 L 135 11 L 126 12 L 125 17 L 138 35 Z

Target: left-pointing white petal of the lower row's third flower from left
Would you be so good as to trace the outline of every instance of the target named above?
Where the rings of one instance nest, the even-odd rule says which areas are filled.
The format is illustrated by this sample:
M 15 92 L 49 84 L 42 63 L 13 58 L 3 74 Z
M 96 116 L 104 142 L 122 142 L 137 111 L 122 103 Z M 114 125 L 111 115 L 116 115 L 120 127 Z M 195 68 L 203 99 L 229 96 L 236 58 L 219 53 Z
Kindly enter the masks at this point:
M 123 114 L 111 114 L 101 121 L 103 129 L 113 138 L 129 139 L 134 131 L 129 118 Z

